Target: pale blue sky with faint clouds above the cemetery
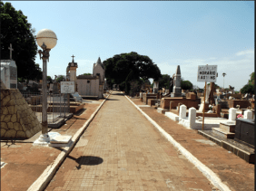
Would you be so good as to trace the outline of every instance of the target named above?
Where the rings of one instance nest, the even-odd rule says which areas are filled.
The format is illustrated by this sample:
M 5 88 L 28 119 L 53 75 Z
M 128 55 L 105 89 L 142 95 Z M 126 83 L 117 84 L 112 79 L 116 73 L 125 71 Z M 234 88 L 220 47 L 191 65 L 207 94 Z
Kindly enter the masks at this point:
M 162 74 L 172 76 L 180 65 L 182 78 L 200 88 L 204 82 L 197 81 L 199 65 L 217 65 L 216 84 L 231 85 L 235 91 L 255 71 L 253 1 L 10 3 L 27 16 L 35 34 L 44 28 L 56 34 L 47 63 L 52 78 L 65 75 L 72 55 L 80 75 L 92 73 L 99 56 L 103 62 L 131 52 L 149 56 Z M 43 68 L 38 54 L 35 62 Z

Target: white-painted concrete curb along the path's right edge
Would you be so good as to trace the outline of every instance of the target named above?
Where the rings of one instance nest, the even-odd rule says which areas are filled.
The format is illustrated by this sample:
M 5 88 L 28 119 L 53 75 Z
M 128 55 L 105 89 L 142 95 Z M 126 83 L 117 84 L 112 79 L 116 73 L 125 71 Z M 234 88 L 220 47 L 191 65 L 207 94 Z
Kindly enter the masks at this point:
M 130 100 L 126 95 L 124 95 L 126 97 L 127 100 Z M 178 148 L 178 150 L 182 153 L 182 155 L 184 155 L 190 162 L 192 162 L 192 164 L 197 167 L 202 174 L 207 177 L 211 182 L 212 185 L 218 187 L 218 189 L 222 190 L 222 191 L 231 191 L 231 189 L 226 186 L 224 183 L 222 183 L 222 180 L 220 177 L 218 177 L 209 167 L 206 167 L 205 165 L 202 164 L 202 162 L 200 160 L 198 160 L 197 158 L 195 158 L 186 148 L 183 148 L 182 145 L 180 143 L 178 143 L 176 140 L 174 140 L 174 138 L 172 138 L 171 135 L 169 135 L 164 129 L 162 129 L 153 119 L 151 119 L 146 113 L 143 112 L 143 110 L 141 110 L 139 107 L 137 107 L 137 105 L 135 105 L 133 103 L 132 100 L 130 100 L 130 102 L 133 104 L 133 106 L 135 106 L 135 108 L 137 110 L 139 110 L 143 116 L 148 119 L 153 126 L 158 129 L 162 135 L 167 138 L 172 145 L 175 148 Z

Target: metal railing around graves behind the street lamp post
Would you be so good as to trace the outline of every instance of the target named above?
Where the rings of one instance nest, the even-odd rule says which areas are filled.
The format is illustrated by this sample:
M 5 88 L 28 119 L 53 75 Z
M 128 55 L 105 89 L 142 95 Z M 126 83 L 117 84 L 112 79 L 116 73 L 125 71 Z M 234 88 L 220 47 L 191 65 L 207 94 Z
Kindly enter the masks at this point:
M 22 92 L 22 94 L 39 122 L 42 122 L 42 94 L 26 92 Z M 48 123 L 54 123 L 58 119 L 65 118 L 69 112 L 67 94 L 47 94 Z

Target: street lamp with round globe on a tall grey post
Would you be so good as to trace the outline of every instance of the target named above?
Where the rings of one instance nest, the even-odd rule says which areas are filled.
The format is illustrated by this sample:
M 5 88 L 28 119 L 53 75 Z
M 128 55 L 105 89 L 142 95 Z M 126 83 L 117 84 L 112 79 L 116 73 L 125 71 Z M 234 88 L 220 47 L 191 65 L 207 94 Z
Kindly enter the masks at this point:
M 57 43 L 56 34 L 49 29 L 42 29 L 36 35 L 36 43 L 43 49 L 39 50 L 40 60 L 43 59 L 43 99 L 42 99 L 42 135 L 39 138 L 40 142 L 49 142 L 48 136 L 48 123 L 47 123 L 47 60 L 49 62 L 49 56 L 51 49 Z M 41 54 L 43 56 L 41 56 Z

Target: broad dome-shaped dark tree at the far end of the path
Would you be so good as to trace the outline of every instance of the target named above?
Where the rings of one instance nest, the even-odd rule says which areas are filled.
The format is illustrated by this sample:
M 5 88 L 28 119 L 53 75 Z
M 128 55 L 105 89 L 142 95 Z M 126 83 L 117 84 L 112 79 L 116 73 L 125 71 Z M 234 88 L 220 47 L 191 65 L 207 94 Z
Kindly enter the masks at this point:
M 148 56 L 134 52 L 114 55 L 103 61 L 103 65 L 107 82 L 110 85 L 120 84 L 121 89 L 131 81 L 158 80 L 161 77 L 158 66 Z

